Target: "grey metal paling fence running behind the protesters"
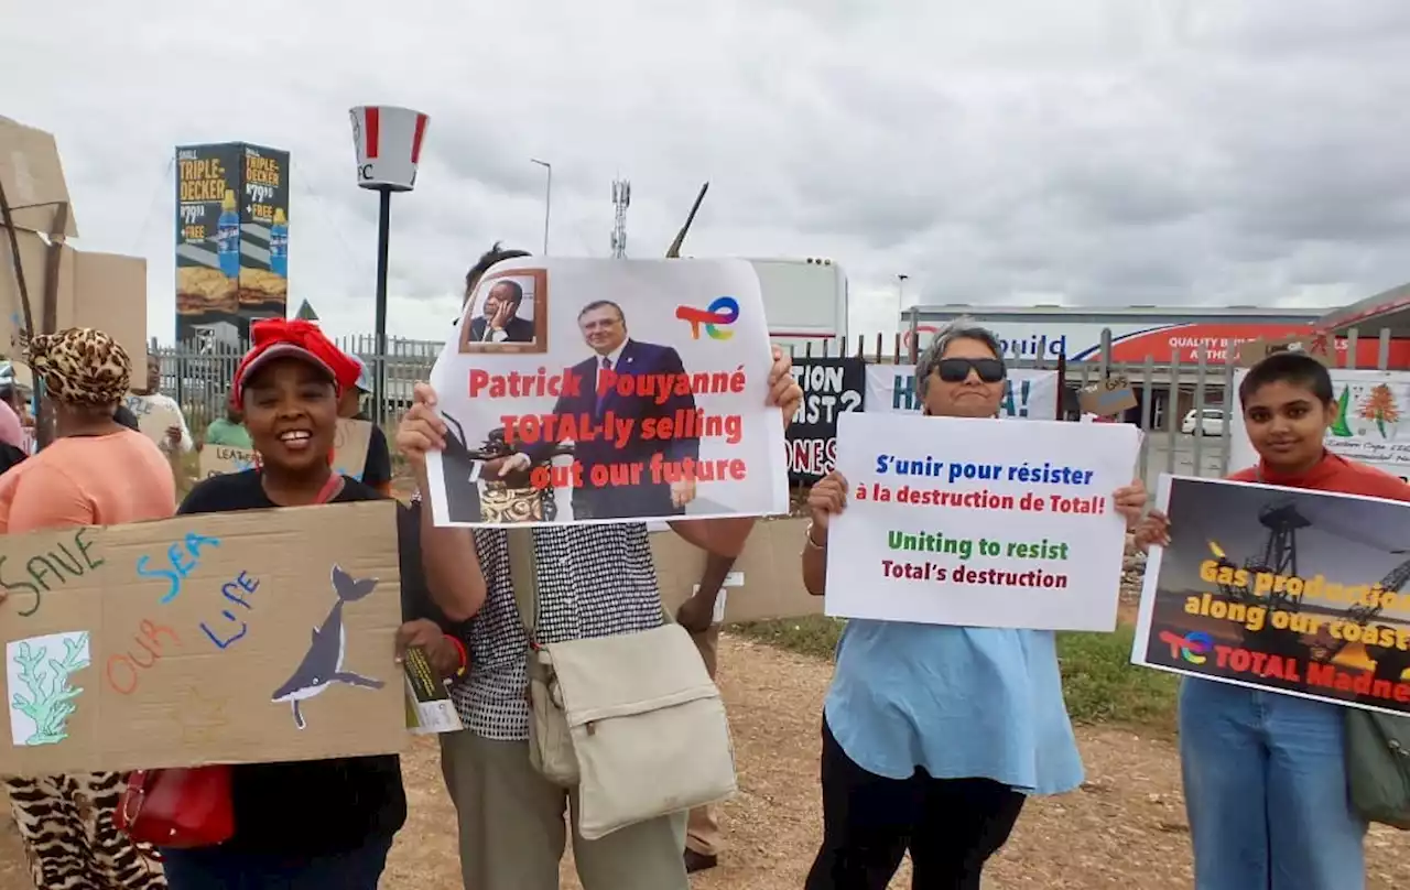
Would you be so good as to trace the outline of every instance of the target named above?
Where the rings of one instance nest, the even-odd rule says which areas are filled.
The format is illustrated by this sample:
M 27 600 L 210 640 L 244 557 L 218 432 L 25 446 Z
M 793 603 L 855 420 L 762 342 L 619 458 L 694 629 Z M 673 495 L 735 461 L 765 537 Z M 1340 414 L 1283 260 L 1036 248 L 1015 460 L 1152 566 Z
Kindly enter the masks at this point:
M 795 343 L 795 357 L 857 355 L 877 364 L 911 364 L 915 361 L 916 343 L 897 334 L 863 334 L 856 340 L 807 340 Z M 1352 330 L 1340 340 L 1337 367 L 1355 368 L 1355 357 L 1362 351 L 1359 333 Z M 1390 364 L 1390 331 L 1379 331 L 1376 361 L 1362 364 L 1363 368 L 1387 370 Z M 430 377 L 431 365 L 440 354 L 441 344 L 429 340 L 389 337 L 385 355 L 378 355 L 375 339 L 368 334 L 341 337 L 340 348 L 360 357 L 369 370 L 378 362 L 386 365 L 386 405 L 384 417 L 388 425 L 400 419 L 410 406 L 412 385 Z M 1039 343 L 1039 353 L 1043 344 Z M 199 436 L 206 425 L 226 412 L 226 398 L 235 365 L 244 354 L 244 347 L 221 343 L 180 343 L 176 346 L 152 344 L 152 353 L 161 361 L 161 389 L 173 396 L 186 410 L 188 423 Z M 1107 379 L 1110 375 L 1124 375 L 1136 396 L 1138 406 L 1121 417 L 1139 425 L 1146 436 L 1141 446 L 1141 468 L 1148 484 L 1160 473 L 1218 477 L 1230 470 L 1230 413 L 1224 410 L 1232 403 L 1230 394 L 1234 386 L 1234 370 L 1238 367 L 1238 348 L 1211 350 L 1200 346 L 1190 350 L 1189 361 L 1156 364 L 1153 358 L 1144 362 L 1114 362 L 1111 357 L 1111 331 L 1101 336 L 1101 348 L 1090 361 L 1067 362 L 1065 360 L 1042 360 L 1031 355 L 1008 355 L 1011 367 L 1055 370 L 1062 384 L 1060 413 L 1076 419 L 1077 392 L 1089 384 Z M 1218 427 L 1201 434 L 1203 423 L 1196 425 L 1194 434 L 1182 430 L 1184 419 L 1194 412 L 1220 409 Z M 374 412 L 375 413 L 375 412 Z

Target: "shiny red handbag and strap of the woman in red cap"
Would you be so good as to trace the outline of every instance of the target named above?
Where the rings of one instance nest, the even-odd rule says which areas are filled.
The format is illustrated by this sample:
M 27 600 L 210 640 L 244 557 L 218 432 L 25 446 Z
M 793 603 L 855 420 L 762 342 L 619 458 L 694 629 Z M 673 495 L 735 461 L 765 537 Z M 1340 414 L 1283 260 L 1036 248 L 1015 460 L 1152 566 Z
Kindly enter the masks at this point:
M 327 504 L 343 488 L 333 474 L 314 504 Z M 186 849 L 224 843 L 235 834 L 228 766 L 135 770 L 127 776 L 113 825 L 138 843 Z

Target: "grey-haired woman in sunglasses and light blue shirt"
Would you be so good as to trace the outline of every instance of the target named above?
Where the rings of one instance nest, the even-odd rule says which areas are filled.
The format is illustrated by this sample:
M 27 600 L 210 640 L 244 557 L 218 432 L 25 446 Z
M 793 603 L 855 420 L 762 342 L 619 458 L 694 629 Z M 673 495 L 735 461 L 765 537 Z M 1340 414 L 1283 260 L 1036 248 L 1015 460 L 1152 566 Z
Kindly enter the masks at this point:
M 952 322 L 915 367 L 924 412 L 994 417 L 1000 355 L 993 333 Z M 808 498 L 802 577 L 814 595 L 846 496 L 832 473 Z M 1145 487 L 1112 499 L 1135 523 Z M 849 621 L 823 705 L 823 838 L 807 890 L 885 890 L 907 851 L 916 890 L 979 890 L 1028 795 L 1080 783 L 1050 630 Z

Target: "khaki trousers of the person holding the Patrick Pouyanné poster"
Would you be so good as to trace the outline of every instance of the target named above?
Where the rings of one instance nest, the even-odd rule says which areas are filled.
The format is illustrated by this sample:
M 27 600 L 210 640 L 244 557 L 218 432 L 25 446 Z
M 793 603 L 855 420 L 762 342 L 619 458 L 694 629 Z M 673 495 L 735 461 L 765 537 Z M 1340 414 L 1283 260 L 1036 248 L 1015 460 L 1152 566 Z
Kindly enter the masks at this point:
M 578 795 L 540 776 L 529 742 L 494 742 L 468 729 L 440 736 L 441 772 L 460 821 L 465 890 L 558 890 L 572 825 L 584 890 L 688 890 L 685 819 L 663 817 L 596 841 L 577 832 Z

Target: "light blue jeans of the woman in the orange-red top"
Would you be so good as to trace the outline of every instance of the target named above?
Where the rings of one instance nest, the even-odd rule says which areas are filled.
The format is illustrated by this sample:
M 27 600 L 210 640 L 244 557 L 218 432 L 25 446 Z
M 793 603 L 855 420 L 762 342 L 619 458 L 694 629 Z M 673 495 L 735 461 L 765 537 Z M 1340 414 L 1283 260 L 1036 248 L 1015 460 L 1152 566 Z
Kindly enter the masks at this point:
M 1211 680 L 1180 687 L 1196 890 L 1363 890 L 1345 711 Z

